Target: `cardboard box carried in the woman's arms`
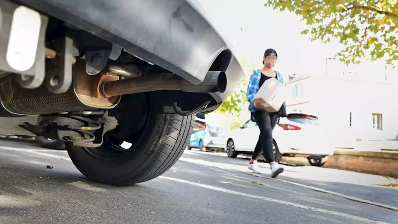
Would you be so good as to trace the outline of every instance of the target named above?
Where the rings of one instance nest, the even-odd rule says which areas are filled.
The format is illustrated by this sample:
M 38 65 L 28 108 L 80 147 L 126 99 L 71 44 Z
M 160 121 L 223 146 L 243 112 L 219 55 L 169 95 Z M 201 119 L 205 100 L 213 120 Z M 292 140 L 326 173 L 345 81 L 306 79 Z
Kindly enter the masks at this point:
M 276 78 L 268 78 L 253 100 L 263 105 L 267 112 L 277 112 L 285 101 L 285 86 Z

